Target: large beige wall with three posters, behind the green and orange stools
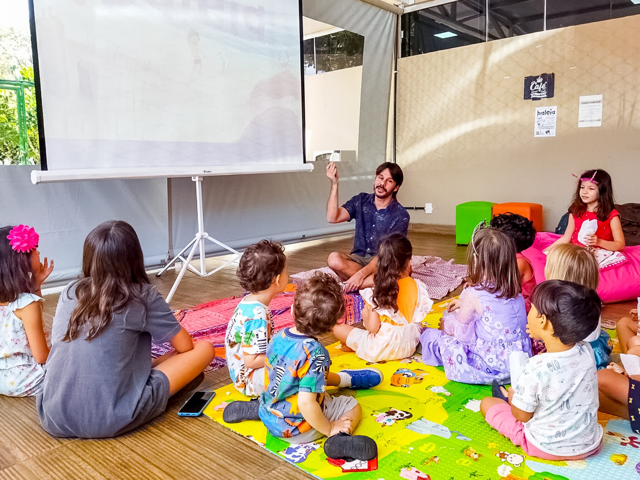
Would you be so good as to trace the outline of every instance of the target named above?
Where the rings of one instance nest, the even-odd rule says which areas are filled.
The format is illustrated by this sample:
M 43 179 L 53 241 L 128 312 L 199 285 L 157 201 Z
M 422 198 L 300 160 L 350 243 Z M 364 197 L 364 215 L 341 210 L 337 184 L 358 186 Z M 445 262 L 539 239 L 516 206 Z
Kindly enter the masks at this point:
M 455 223 L 469 200 L 542 204 L 552 230 L 572 173 L 604 168 L 616 200 L 640 202 L 640 15 L 399 60 L 397 162 L 416 223 Z M 524 77 L 556 74 L 552 99 Z M 578 128 L 580 95 L 602 93 L 602 127 Z M 555 138 L 533 138 L 536 106 L 557 106 Z

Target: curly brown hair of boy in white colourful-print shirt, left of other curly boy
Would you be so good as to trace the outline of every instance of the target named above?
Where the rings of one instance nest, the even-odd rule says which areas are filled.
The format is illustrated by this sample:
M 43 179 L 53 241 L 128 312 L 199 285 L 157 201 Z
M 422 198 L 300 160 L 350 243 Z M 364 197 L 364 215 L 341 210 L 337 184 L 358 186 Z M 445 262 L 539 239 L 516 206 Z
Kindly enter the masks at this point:
M 236 275 L 244 289 L 255 293 L 266 290 L 287 262 L 284 246 L 273 240 L 260 240 L 244 250 Z

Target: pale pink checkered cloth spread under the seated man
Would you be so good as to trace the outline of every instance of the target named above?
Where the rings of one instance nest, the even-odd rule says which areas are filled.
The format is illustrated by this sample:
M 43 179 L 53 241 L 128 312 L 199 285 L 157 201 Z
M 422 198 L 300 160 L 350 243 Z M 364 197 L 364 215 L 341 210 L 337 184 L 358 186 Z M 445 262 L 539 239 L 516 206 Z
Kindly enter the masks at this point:
M 429 296 L 432 300 L 440 300 L 451 291 L 460 287 L 462 279 L 467 276 L 467 266 L 454 263 L 453 260 L 445 261 L 432 255 L 413 255 L 411 259 L 411 276 L 421 280 L 427 285 Z M 304 282 L 316 272 L 328 273 L 339 280 L 338 276 L 328 267 L 316 268 L 291 275 L 295 284 Z

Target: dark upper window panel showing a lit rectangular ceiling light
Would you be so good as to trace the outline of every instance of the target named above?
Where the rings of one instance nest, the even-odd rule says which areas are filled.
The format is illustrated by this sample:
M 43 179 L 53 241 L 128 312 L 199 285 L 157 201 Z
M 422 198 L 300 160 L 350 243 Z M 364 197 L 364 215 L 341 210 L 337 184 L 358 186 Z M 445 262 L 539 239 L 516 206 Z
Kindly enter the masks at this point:
M 478 44 L 486 40 L 484 0 L 463 0 L 402 16 L 402 56 Z

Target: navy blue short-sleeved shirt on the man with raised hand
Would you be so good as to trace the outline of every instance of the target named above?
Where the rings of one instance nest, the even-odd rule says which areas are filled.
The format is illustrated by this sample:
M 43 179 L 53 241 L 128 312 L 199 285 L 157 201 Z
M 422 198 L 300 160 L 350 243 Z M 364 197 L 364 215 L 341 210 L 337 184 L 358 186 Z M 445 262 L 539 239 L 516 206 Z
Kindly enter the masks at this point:
M 406 236 L 409 212 L 394 198 L 387 208 L 376 209 L 373 193 L 359 193 L 342 205 L 349 212 L 349 221 L 356 219 L 356 234 L 351 253 L 364 257 L 378 255 L 380 243 L 390 234 Z

